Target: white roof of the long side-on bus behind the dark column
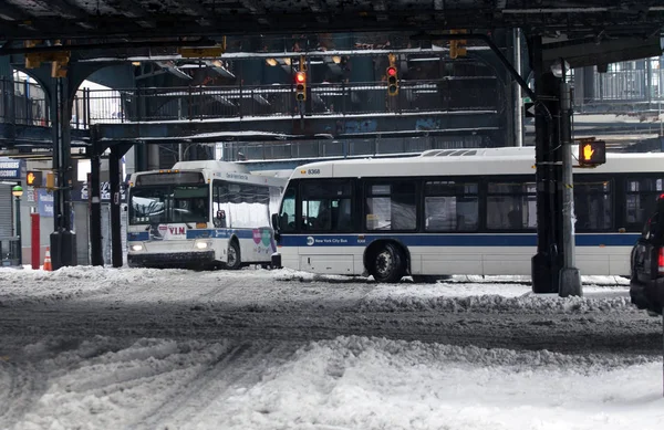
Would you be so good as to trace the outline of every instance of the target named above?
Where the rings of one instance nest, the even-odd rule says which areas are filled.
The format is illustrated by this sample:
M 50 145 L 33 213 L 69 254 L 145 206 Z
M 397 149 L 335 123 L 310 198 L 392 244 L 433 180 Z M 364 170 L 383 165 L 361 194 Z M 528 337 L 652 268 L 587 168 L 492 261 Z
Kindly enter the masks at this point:
M 660 172 L 663 153 L 608 153 L 606 164 L 574 174 Z M 574 165 L 578 161 L 574 160 Z M 302 165 L 295 178 L 535 175 L 535 147 L 433 149 L 418 157 L 329 160 Z M 663 174 L 664 176 L 664 174 Z

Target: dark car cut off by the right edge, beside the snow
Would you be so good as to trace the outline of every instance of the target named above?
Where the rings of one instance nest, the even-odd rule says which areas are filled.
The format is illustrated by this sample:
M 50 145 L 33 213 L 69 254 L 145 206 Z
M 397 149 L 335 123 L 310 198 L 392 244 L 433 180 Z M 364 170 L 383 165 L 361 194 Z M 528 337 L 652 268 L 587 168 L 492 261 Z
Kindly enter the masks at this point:
M 631 254 L 630 296 L 640 310 L 662 315 L 664 307 L 664 195 Z

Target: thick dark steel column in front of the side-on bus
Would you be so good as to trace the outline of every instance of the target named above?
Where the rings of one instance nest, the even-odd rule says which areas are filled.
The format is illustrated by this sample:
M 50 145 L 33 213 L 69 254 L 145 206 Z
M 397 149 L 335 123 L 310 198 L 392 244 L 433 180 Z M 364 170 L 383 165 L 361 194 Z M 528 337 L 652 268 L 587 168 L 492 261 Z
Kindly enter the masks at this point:
M 536 97 L 542 104 L 535 118 L 537 254 L 531 265 L 532 292 L 558 293 L 563 245 L 560 78 L 542 63 L 541 36 L 530 40 L 530 50 Z

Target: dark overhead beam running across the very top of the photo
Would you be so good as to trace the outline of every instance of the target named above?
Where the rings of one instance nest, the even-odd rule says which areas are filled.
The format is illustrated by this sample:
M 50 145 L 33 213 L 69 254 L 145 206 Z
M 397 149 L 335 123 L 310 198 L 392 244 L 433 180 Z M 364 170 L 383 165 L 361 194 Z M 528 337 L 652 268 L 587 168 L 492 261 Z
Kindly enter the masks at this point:
M 124 1 L 124 0 L 123 0 Z M 435 2 L 427 8 L 405 10 L 388 8 L 386 12 L 370 10 L 365 13 L 343 11 L 339 8 L 328 13 L 315 13 L 311 10 L 274 12 L 268 11 L 259 0 L 241 0 L 247 13 L 227 13 L 228 7 L 219 8 L 210 13 L 215 25 L 204 27 L 198 24 L 203 17 L 186 14 L 149 15 L 157 21 L 154 29 L 139 25 L 128 25 L 127 17 L 123 15 L 94 15 L 89 14 L 86 22 L 93 29 L 83 29 L 77 25 L 81 20 L 66 20 L 60 17 L 33 17 L 30 29 L 12 29 L 2 25 L 0 21 L 0 38 L 4 39 L 80 39 L 91 36 L 104 38 L 164 38 L 177 34 L 189 35 L 235 35 L 255 32 L 260 34 L 284 33 L 315 33 L 342 31 L 429 31 L 445 28 L 515 28 L 531 29 L 535 33 L 547 31 L 561 31 L 590 35 L 598 29 L 605 29 L 608 36 L 643 35 L 661 28 L 664 23 L 664 7 L 651 7 L 642 12 L 640 19 L 633 14 L 614 8 L 543 8 L 543 9 L 504 9 L 500 14 L 492 7 L 485 6 L 476 9 L 445 9 L 436 13 Z M 435 0 L 433 0 L 435 1 Z M 444 7 L 445 2 L 438 3 Z M 329 22 L 323 24 L 318 18 L 328 17 Z M 386 19 L 385 19 L 386 18 Z

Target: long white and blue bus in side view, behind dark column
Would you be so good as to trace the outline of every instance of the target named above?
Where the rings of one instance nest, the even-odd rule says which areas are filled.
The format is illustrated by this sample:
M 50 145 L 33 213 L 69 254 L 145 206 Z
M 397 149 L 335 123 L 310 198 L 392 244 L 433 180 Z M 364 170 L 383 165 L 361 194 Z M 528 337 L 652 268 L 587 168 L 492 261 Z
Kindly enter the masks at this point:
M 577 266 L 630 275 L 630 251 L 664 191 L 664 154 L 608 154 L 574 169 Z M 435 149 L 293 170 L 272 216 L 273 265 L 321 274 L 530 275 L 535 149 Z M 277 227 L 278 226 L 278 227 Z

